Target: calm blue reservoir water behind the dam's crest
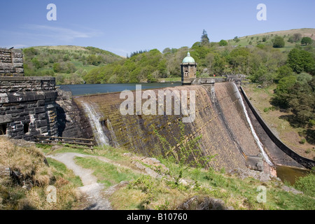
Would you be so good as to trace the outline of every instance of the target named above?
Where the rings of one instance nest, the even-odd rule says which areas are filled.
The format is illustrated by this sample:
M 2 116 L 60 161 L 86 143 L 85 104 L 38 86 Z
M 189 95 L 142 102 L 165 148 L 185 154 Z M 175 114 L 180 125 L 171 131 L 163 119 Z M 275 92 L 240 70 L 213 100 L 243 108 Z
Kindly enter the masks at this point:
M 57 85 L 62 90 L 71 91 L 73 96 L 85 94 L 98 94 L 107 92 L 121 92 L 123 90 L 136 90 L 136 85 L 141 85 L 142 90 L 174 87 L 181 82 L 174 83 L 118 83 L 118 84 L 80 84 L 80 85 Z

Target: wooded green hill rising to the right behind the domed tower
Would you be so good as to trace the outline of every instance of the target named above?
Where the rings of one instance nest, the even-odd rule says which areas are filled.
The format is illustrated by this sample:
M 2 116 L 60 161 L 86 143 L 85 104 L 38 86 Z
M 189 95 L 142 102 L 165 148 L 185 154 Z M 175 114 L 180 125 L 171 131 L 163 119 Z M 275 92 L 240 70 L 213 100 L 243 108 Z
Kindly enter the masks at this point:
M 310 57 L 314 57 L 315 41 L 308 45 L 301 44 L 304 36 L 314 38 L 314 33 L 315 29 L 294 29 L 236 37 L 219 43 L 210 42 L 209 38 L 204 38 L 206 41 L 201 39 L 191 48 L 165 48 L 162 52 L 157 49 L 137 52 L 119 62 L 93 69 L 83 77 L 87 83 L 139 83 L 155 82 L 160 79 L 169 80 L 181 76 L 179 64 L 189 50 L 190 55 L 198 64 L 197 77 L 242 73 L 253 82 L 269 85 L 277 79 L 276 72 L 279 68 L 288 64 L 288 54 L 293 48 L 307 51 L 307 54 L 311 54 Z M 204 34 L 207 35 L 207 32 Z M 281 40 L 283 38 L 283 47 L 274 46 L 276 38 Z M 312 66 L 314 66 L 314 60 L 308 65 L 310 68 Z M 307 69 L 306 72 L 314 74 L 314 71 L 314 69 Z

